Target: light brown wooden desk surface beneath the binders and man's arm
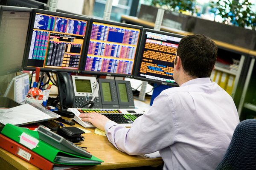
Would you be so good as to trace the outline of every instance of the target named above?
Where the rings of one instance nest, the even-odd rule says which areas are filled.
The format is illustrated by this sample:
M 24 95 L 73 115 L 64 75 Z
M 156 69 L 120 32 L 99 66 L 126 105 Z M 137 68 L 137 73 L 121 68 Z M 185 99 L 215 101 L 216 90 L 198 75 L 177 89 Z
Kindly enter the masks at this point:
M 81 127 L 78 124 L 75 126 Z M 106 170 L 141 166 L 157 167 L 163 164 L 163 160 L 161 158 L 150 159 L 143 155 L 129 156 L 127 153 L 117 150 L 113 144 L 108 141 L 107 137 L 95 134 L 95 128 L 86 128 L 86 130 L 90 130 L 92 133 L 83 134 L 85 139 L 79 146 L 87 147 L 87 151 L 89 151 L 93 156 L 102 159 L 104 162 L 101 165 L 84 166 L 79 170 Z M 23 159 L 20 159 L 12 153 L 0 148 L 0 170 L 7 169 L 39 170 L 39 168 L 34 165 L 29 164 Z

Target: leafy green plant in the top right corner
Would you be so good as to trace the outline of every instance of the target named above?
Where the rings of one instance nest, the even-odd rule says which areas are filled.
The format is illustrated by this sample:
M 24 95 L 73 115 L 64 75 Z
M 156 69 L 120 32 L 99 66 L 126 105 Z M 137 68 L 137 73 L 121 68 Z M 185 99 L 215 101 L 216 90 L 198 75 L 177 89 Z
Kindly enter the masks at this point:
M 251 10 L 252 3 L 244 0 L 239 3 L 235 0 L 218 0 L 217 3 L 210 2 L 212 11 L 222 17 L 223 22 L 230 20 L 234 26 L 256 28 L 256 14 Z

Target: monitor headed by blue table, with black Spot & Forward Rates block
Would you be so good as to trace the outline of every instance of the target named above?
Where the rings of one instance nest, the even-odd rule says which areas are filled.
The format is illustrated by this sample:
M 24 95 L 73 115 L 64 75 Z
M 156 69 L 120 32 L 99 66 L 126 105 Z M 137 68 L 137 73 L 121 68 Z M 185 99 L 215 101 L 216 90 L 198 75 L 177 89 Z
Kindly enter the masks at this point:
M 90 18 L 33 9 L 24 70 L 80 73 Z

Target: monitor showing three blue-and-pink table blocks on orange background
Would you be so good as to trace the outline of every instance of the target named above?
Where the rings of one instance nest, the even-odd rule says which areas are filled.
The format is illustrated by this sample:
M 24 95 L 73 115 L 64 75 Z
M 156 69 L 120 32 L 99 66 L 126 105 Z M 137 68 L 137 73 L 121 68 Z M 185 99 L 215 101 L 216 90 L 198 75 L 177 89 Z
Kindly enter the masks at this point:
M 92 19 L 83 74 L 133 77 L 142 26 Z

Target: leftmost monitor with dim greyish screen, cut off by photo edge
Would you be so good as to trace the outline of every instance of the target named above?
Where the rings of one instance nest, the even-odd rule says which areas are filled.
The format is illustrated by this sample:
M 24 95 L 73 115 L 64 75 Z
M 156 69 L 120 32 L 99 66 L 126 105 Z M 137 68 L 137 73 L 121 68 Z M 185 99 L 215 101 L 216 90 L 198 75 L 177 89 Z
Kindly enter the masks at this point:
M 0 76 L 22 71 L 32 9 L 0 6 Z

